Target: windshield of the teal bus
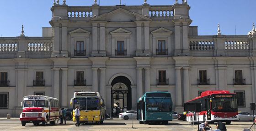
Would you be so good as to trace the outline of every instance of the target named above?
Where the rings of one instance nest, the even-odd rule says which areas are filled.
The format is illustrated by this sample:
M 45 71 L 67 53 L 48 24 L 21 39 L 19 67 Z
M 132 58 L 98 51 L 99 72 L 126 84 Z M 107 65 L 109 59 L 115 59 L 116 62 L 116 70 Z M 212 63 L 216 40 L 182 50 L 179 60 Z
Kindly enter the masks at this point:
M 147 111 L 171 112 L 171 98 L 147 98 Z

